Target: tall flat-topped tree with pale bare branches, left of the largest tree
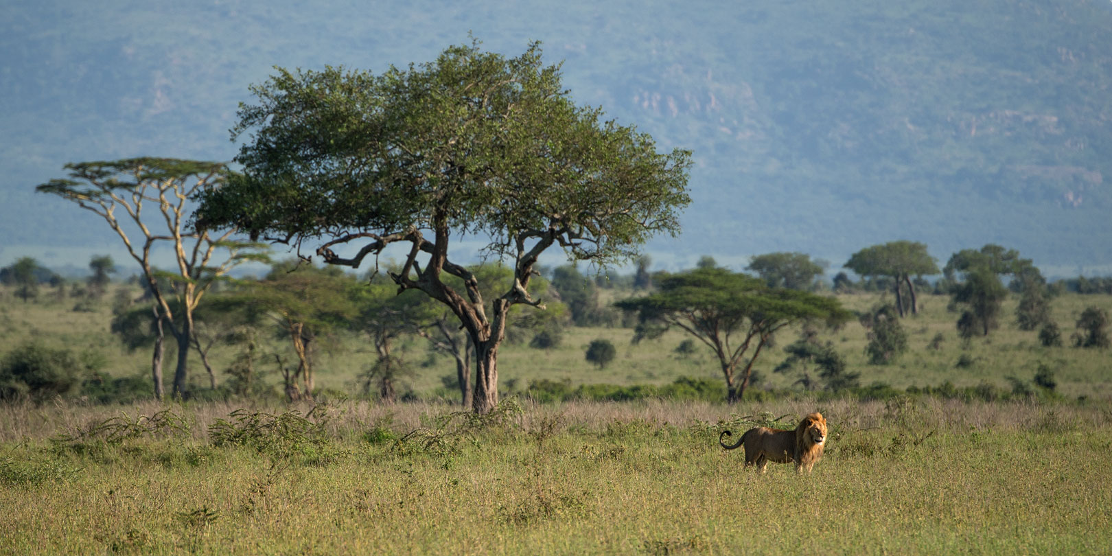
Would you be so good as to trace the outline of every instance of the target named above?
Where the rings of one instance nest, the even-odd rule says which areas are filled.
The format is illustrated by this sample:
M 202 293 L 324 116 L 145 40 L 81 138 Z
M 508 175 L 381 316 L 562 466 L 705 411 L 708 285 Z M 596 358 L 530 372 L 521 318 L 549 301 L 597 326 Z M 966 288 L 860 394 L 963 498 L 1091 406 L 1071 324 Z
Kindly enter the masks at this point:
M 100 216 L 123 241 L 139 264 L 145 286 L 156 304 L 158 337 L 151 363 L 155 395 L 162 399 L 162 338 L 168 327 L 178 344 L 171 391 L 175 397 L 182 396 L 193 342 L 193 310 L 212 284 L 232 267 L 260 257 L 258 246 L 231 241 L 235 228 L 215 236 L 203 228 L 190 229 L 187 222 L 189 199 L 220 188 L 228 169 L 218 162 L 170 158 L 69 163 L 66 169 L 70 171 L 69 178 L 50 180 L 37 190 L 57 195 Z M 132 242 L 132 236 L 125 229 L 129 220 L 139 230 L 139 244 Z M 156 226 L 165 229 L 156 231 Z M 151 252 L 160 245 L 172 250 L 173 271 L 160 272 L 151 264 Z M 180 318 L 173 312 L 175 301 L 182 312 Z

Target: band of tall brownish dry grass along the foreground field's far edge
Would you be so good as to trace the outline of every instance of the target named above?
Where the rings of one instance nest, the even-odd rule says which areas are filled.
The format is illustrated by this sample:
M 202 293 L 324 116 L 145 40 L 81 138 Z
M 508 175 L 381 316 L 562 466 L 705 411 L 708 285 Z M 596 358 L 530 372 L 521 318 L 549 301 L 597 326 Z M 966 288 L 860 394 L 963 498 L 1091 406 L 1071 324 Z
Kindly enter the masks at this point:
M 518 403 L 515 400 L 515 403 Z M 647 423 L 656 427 L 685 428 L 699 424 L 716 424 L 741 417 L 771 415 L 794 423 L 811 411 L 822 411 L 833 425 L 847 430 L 865 430 L 897 426 L 940 431 L 974 430 L 1042 430 L 1053 427 L 1101 427 L 1112 424 L 1112 406 L 1108 404 L 1042 404 L 1035 401 L 962 401 L 934 397 L 898 398 L 886 401 L 780 400 L 741 403 L 736 405 L 647 400 L 628 403 L 573 401 L 564 404 L 519 403 L 522 415 L 515 417 L 523 430 L 538 426 L 602 430 L 614 423 Z M 236 409 L 281 414 L 289 410 L 308 415 L 314 405 L 258 404 L 250 401 L 214 401 L 160 404 L 142 401 L 127 406 L 96 406 L 57 400 L 34 405 L 0 404 L 0 443 L 23 439 L 41 440 L 58 433 L 71 433 L 90 424 L 113 417 L 136 418 L 170 409 L 190 423 L 195 439 L 207 440 L 208 427 L 225 419 Z M 427 426 L 437 417 L 466 414 L 458 405 L 436 403 L 403 403 L 380 405 L 370 401 L 344 401 L 327 406 L 327 428 L 339 438 L 355 438 L 370 427 L 385 425 L 398 431 Z

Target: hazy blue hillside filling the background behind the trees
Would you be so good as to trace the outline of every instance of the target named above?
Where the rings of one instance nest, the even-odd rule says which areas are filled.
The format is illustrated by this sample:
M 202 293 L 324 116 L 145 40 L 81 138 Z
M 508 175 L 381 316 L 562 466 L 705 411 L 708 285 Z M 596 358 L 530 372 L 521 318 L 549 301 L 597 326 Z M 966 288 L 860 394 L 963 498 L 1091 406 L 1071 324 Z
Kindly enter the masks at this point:
M 695 151 L 684 235 L 654 242 L 657 260 L 800 250 L 837 265 L 906 238 L 942 259 L 993 241 L 1037 265 L 1112 265 L 1106 0 L 117 1 L 3 16 L 3 259 L 113 241 L 30 192 L 67 161 L 230 159 L 236 105 L 271 66 L 381 71 L 471 30 L 507 54 L 544 41 L 580 102 Z

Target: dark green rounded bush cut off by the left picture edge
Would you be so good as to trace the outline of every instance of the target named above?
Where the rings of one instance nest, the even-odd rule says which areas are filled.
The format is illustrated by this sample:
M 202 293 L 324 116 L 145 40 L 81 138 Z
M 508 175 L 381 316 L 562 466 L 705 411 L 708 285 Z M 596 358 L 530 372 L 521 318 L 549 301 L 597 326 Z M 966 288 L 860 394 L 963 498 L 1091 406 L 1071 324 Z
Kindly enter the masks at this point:
M 23 344 L 0 363 L 0 399 L 66 396 L 81 384 L 88 370 L 68 349 Z

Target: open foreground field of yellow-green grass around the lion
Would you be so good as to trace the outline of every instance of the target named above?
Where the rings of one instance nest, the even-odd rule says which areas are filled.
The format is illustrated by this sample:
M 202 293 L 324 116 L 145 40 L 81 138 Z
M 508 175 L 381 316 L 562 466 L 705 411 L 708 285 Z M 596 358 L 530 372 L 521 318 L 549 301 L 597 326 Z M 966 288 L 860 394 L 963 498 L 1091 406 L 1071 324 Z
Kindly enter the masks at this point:
M 485 423 L 428 404 L 237 408 L 0 408 L 0 554 L 1112 546 L 1106 404 L 526 404 Z M 723 427 L 815 408 L 831 436 L 810 476 L 745 471 L 717 446 Z

